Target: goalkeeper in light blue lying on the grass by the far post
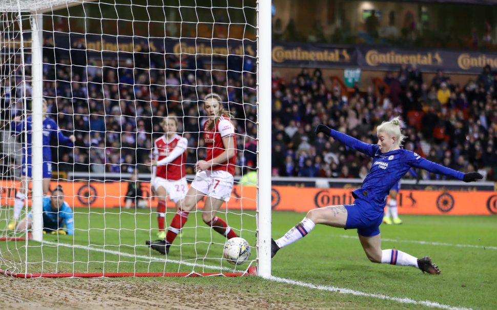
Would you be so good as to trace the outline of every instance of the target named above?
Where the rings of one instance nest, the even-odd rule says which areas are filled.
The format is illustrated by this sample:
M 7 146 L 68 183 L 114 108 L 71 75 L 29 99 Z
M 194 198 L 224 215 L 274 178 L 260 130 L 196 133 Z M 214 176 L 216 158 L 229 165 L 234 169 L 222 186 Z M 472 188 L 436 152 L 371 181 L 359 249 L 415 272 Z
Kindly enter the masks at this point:
M 43 196 L 43 233 L 74 235 L 74 218 L 69 204 L 64 201 L 63 189 L 58 186 L 50 194 Z M 32 220 L 30 213 L 19 222 L 15 231 L 30 230 Z

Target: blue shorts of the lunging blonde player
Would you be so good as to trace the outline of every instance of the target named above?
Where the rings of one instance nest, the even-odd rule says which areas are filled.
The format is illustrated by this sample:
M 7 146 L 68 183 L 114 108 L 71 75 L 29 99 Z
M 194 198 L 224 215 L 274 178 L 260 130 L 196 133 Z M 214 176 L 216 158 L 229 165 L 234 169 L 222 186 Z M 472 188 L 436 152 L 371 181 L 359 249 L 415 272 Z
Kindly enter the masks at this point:
M 372 237 L 380 233 L 383 208 L 361 199 L 356 199 L 353 204 L 344 206 L 347 209 L 345 229 L 357 229 L 357 233 L 364 237 Z

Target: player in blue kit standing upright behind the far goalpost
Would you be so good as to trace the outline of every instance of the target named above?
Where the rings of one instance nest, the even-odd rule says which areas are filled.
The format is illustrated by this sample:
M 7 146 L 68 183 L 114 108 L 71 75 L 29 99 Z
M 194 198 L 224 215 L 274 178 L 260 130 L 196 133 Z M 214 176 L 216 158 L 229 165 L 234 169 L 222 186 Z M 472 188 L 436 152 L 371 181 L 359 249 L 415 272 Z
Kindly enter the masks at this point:
M 15 195 L 14 200 L 14 220 L 7 226 L 8 229 L 13 230 L 15 224 L 19 219 L 20 213 L 23 210 L 24 201 L 26 199 L 26 182 L 31 179 L 31 149 L 32 149 L 32 117 L 29 116 L 26 122 L 22 121 L 20 117 L 16 117 L 12 122 L 12 128 L 15 134 L 20 134 L 27 131 L 27 148 L 23 148 L 23 165 L 21 169 L 21 185 Z M 57 123 L 47 116 L 47 101 L 43 99 L 43 194 L 48 194 L 50 189 L 50 179 L 52 177 L 52 151 L 50 150 L 50 139 L 55 136 L 59 143 L 64 143 L 68 147 L 72 147 L 73 142 L 76 140 L 74 135 L 66 137 L 60 132 Z M 27 153 L 27 156 L 26 156 Z M 27 159 L 27 162 L 26 162 Z

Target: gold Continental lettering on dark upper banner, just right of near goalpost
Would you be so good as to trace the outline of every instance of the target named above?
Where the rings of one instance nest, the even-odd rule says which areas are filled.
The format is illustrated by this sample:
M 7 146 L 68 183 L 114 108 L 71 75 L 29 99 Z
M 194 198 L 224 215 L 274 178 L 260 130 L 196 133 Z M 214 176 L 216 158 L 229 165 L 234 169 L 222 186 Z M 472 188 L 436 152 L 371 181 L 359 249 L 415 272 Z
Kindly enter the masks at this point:
M 350 62 L 350 55 L 346 49 L 333 49 L 323 51 L 303 50 L 300 47 L 291 49 L 283 46 L 273 47 L 272 58 L 275 63 L 283 63 L 286 60 L 299 61 L 340 61 Z

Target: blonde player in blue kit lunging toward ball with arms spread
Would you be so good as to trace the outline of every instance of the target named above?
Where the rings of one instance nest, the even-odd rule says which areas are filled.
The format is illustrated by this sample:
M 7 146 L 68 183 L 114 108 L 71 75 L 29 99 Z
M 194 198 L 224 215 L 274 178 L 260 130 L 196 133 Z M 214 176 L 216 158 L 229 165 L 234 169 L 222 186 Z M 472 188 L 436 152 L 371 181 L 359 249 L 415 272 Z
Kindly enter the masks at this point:
M 283 237 L 276 241 L 271 240 L 271 257 L 274 257 L 282 247 L 307 235 L 316 224 L 325 224 L 337 228 L 357 229 L 361 245 L 371 262 L 412 266 L 429 274 L 440 274 L 439 268 L 428 256 L 418 259 L 402 251 L 381 249 L 379 227 L 383 220 L 388 192 L 411 167 L 451 176 L 465 182 L 476 181 L 483 176 L 477 172 L 464 174 L 401 149 L 400 145 L 405 139 L 400 131 L 401 124 L 399 118 L 394 118 L 378 126 L 378 144 L 367 144 L 329 129 L 325 125 L 318 125 L 317 134 L 322 132 L 347 147 L 372 157 L 371 170 L 364 179 L 362 187 L 352 192 L 356 199 L 353 204 L 327 206 L 309 211 L 304 219 Z

